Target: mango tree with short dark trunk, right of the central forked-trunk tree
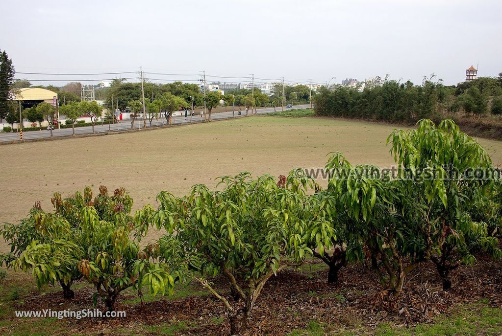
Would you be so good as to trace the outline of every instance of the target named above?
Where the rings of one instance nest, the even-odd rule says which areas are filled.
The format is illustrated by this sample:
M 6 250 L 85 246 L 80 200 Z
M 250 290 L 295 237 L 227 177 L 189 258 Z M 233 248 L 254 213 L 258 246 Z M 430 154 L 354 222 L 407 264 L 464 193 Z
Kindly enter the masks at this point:
M 355 170 L 342 153 L 332 153 L 325 169 L 330 171 L 328 188 L 321 190 L 316 186 L 314 195 L 310 196 L 311 217 L 305 240 L 314 257 L 329 266 L 328 283 L 336 283 L 338 271 L 347 262 L 363 259 L 361 235 L 364 232 L 361 226 L 364 226 L 365 217 L 374 205 L 371 204 L 374 189 L 370 181 L 353 179 L 355 175 L 351 174 Z M 361 188 L 363 182 L 367 185 Z M 369 195 L 366 195 L 368 192 Z M 364 216 L 360 211 L 354 213 L 352 207 L 364 207 L 364 201 L 368 201 L 367 208 L 363 210 Z M 327 251 L 331 248 L 333 253 L 329 255 Z

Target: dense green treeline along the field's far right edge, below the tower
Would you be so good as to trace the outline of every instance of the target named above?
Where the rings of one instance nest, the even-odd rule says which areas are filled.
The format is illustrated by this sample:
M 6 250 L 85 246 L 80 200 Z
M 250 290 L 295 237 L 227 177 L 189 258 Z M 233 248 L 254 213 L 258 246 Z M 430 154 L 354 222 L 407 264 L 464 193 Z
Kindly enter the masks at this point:
M 364 88 L 336 86 L 323 88 L 315 96 L 319 116 L 363 118 L 389 122 L 441 120 L 445 113 L 465 113 L 481 117 L 502 113 L 502 76 L 481 77 L 456 86 L 444 86 L 435 76 L 421 85 L 408 81 L 366 82 Z

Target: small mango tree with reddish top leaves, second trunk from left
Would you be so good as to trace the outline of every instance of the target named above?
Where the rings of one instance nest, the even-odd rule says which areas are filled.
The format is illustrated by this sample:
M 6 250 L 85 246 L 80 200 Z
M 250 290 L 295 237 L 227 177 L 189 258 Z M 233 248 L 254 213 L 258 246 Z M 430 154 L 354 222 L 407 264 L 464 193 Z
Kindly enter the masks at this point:
M 78 221 L 78 242 L 85 246 L 86 254 L 76 267 L 81 275 L 96 288 L 94 300 L 101 297 L 112 310 L 121 291 L 134 287 L 141 294 L 144 279 L 150 279 L 154 294 L 171 290 L 174 279 L 169 272 L 149 260 L 145 251 L 140 251 L 140 237 L 131 215 L 133 199 L 123 188 L 108 195 L 105 186 L 92 198 L 90 188 L 83 195 L 61 200 L 56 194 L 52 200 L 56 210 L 71 222 Z

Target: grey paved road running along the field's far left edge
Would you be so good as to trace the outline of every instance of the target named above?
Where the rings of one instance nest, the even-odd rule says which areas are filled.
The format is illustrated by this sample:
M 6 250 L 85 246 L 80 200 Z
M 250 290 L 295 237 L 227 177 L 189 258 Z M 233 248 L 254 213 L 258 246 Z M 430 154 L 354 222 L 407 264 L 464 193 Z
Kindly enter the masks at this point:
M 306 109 L 308 108 L 309 105 L 298 105 L 294 106 L 295 109 Z M 277 111 L 281 111 L 281 108 L 276 108 Z M 286 110 L 286 108 L 285 108 Z M 258 114 L 267 114 L 274 112 L 274 108 L 263 108 L 263 109 L 258 109 Z M 242 111 L 242 116 L 237 115 L 237 111 L 235 112 L 235 118 L 242 118 L 244 116 L 245 111 Z M 227 118 L 232 118 L 232 112 L 220 112 L 220 113 L 213 113 L 211 115 L 212 120 L 218 120 L 218 119 L 227 119 Z M 195 123 L 200 123 L 202 122 L 202 118 L 199 115 L 192 116 L 192 124 Z M 185 120 L 185 117 L 174 117 L 173 118 L 173 125 L 178 125 L 178 124 L 189 124 L 190 123 L 190 116 L 188 116 L 188 120 Z M 152 126 L 150 126 L 148 120 L 147 120 L 147 128 L 150 127 L 158 127 L 158 126 L 165 126 L 166 125 L 166 119 L 165 118 L 160 118 L 159 120 L 154 120 L 152 122 Z M 109 127 L 109 128 L 108 128 Z M 134 128 L 143 128 L 143 119 L 136 119 L 134 123 Z M 108 124 L 96 124 L 94 126 L 94 132 L 95 133 L 105 133 L 105 132 L 117 132 L 117 131 L 126 131 L 131 129 L 131 120 L 122 120 L 120 123 L 117 124 L 111 124 L 108 126 Z M 91 134 L 92 133 L 92 126 L 85 126 L 85 127 L 76 127 L 75 128 L 75 135 L 81 135 L 81 134 Z M 73 132 L 71 128 L 65 128 L 65 129 L 60 129 L 60 130 L 54 130 L 52 131 L 53 137 L 54 138 L 60 138 L 60 137 L 71 137 Z M 34 139 L 40 139 L 40 138 L 50 138 L 51 132 L 47 130 L 42 130 L 42 131 L 28 131 L 28 132 L 23 132 L 23 139 L 25 140 L 34 140 Z M 18 133 L 0 133 L 0 142 L 16 142 L 20 141 L 19 140 L 19 134 Z

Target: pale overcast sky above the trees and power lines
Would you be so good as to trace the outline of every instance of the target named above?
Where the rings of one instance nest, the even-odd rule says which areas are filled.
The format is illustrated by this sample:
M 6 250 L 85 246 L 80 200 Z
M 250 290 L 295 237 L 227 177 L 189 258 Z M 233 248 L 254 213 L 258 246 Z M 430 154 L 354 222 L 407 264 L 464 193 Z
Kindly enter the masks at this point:
M 143 66 L 338 83 L 386 74 L 420 83 L 435 73 L 456 84 L 478 62 L 478 76 L 502 72 L 501 13 L 500 0 L 2 1 L 0 49 L 18 72 Z

